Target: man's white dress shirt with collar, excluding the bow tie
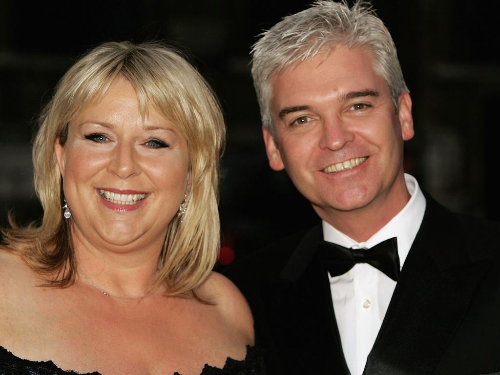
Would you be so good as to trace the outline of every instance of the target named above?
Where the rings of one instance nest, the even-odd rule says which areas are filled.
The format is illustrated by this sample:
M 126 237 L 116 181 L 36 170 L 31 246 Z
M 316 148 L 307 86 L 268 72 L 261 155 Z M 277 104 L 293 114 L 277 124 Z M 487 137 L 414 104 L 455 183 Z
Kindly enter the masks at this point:
M 425 197 L 418 182 L 406 173 L 404 178 L 410 199 L 369 239 L 356 242 L 326 221 L 323 221 L 323 239 L 348 248 L 370 248 L 385 239 L 397 237 L 399 265 L 402 267 L 425 211 Z M 331 277 L 328 274 L 328 277 L 347 367 L 351 375 L 361 375 L 396 282 L 366 263 L 357 263 L 342 275 Z

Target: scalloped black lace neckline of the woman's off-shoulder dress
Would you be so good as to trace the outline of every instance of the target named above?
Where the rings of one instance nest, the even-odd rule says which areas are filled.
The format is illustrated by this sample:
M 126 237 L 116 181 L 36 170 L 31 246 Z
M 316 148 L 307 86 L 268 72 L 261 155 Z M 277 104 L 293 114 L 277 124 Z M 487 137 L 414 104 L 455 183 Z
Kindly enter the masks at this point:
M 243 360 L 227 358 L 224 368 L 205 364 L 200 375 L 265 375 L 263 359 L 255 346 L 246 347 Z M 21 359 L 0 346 L 0 375 L 75 375 L 78 372 L 65 371 L 52 361 L 36 362 Z M 80 375 L 102 375 L 99 372 L 87 372 Z M 165 374 L 170 375 L 170 374 Z M 173 375 L 181 375 L 175 372 Z

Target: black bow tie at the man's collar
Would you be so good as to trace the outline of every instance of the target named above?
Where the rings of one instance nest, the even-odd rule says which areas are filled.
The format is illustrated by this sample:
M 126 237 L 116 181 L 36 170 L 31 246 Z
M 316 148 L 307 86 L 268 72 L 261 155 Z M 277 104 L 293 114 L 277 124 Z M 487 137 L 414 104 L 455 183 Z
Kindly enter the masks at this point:
M 347 248 L 336 243 L 321 241 L 319 249 L 326 269 L 331 276 L 338 276 L 356 263 L 368 263 L 379 269 L 394 281 L 399 276 L 397 240 L 392 237 L 371 248 Z

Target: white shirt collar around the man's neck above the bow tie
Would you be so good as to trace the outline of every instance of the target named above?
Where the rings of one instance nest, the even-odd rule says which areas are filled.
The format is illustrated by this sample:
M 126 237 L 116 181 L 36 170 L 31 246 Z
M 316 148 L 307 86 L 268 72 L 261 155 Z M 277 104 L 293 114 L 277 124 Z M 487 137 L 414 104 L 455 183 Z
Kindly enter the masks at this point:
M 399 256 L 399 264 L 402 267 L 422 223 L 426 205 L 425 197 L 415 177 L 404 173 L 404 180 L 406 188 L 411 195 L 408 202 L 394 217 L 366 241 L 357 242 L 324 220 L 322 221 L 323 239 L 349 248 L 370 248 L 385 239 L 397 237 L 397 254 Z

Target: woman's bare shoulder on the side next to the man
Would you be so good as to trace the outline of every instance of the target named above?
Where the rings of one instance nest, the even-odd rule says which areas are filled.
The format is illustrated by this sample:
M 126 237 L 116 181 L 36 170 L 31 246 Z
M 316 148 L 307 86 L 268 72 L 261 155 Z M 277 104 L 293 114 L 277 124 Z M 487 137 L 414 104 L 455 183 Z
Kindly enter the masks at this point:
M 253 317 L 239 289 L 224 275 L 211 272 L 198 288 L 200 298 L 214 304 L 223 318 L 253 344 Z

